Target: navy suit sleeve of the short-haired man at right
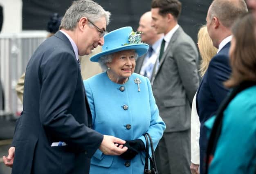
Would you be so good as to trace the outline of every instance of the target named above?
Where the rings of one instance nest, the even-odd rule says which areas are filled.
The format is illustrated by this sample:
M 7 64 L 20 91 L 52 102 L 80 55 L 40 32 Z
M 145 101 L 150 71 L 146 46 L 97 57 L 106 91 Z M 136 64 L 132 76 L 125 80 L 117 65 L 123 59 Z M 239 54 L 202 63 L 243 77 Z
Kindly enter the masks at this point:
M 229 58 L 225 55 L 213 57 L 207 71 L 207 82 L 209 83 L 211 93 L 218 106 L 220 106 L 229 91 L 223 86 L 223 82 L 229 78 L 231 73 Z

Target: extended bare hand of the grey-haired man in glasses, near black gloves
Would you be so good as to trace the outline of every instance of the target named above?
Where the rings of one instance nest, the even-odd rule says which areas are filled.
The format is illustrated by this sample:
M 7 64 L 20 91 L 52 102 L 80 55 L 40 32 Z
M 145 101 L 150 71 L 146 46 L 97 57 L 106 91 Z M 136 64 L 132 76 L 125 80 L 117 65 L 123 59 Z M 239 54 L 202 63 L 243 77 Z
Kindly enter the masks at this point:
M 124 140 L 113 136 L 104 135 L 103 141 L 99 146 L 99 150 L 101 150 L 101 152 L 106 155 L 121 155 L 128 149 L 127 147 L 123 146 L 124 143 Z

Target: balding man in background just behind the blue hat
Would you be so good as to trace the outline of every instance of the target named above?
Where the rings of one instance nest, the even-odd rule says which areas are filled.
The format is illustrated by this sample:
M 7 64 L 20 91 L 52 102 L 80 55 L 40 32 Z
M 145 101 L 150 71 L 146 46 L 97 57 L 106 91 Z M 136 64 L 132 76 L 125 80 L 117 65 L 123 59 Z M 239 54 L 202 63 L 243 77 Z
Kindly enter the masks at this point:
M 150 47 L 147 54 L 137 59 L 134 72 L 151 79 L 153 68 L 159 55 L 163 34 L 157 34 L 155 28 L 151 26 L 150 11 L 141 15 L 139 28 L 137 30 L 141 32 L 141 40 L 149 44 Z

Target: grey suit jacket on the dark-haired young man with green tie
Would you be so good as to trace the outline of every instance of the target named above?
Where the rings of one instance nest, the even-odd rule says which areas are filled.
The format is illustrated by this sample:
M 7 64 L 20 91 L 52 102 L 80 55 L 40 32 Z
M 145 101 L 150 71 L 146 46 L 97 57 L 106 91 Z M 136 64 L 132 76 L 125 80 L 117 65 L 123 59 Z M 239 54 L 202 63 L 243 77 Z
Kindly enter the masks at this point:
M 195 43 L 179 27 L 151 80 L 160 116 L 166 123 L 165 132 L 190 129 L 191 104 L 199 85 L 197 61 Z

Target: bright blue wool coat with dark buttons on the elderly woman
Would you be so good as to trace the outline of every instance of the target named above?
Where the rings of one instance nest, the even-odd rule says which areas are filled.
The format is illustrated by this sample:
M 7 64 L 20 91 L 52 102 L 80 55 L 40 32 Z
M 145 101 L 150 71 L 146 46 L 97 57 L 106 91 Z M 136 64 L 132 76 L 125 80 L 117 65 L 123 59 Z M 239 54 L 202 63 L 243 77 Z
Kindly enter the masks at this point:
M 141 80 L 140 91 L 134 81 L 136 78 Z M 159 116 L 148 78 L 133 73 L 126 84 L 116 84 L 104 72 L 85 80 L 84 86 L 94 130 L 124 140 L 141 139 L 144 143 L 143 134 L 148 132 L 156 148 L 166 127 Z M 97 150 L 91 159 L 90 174 L 142 174 L 144 163 L 144 152 L 132 160 L 124 160 Z

